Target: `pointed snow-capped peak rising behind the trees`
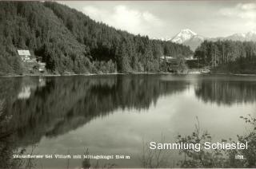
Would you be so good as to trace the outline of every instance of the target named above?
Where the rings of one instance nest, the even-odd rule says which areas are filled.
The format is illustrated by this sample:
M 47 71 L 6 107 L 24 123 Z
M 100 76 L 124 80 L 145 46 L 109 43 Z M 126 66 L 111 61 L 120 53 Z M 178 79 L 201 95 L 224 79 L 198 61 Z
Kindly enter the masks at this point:
M 182 29 L 177 35 L 175 35 L 170 41 L 183 45 L 189 45 L 190 49 L 194 50 L 204 41 L 205 37 L 194 33 L 190 29 Z

